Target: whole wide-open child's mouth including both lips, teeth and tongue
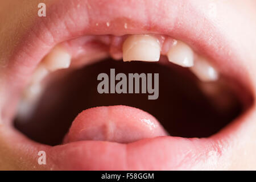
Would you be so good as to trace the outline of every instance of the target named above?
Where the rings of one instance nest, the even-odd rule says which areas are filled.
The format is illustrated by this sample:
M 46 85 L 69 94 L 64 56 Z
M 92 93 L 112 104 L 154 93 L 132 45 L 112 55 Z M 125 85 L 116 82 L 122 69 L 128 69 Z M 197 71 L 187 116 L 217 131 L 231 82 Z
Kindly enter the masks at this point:
M 146 15 L 139 3 L 118 2 L 122 11 L 112 3 L 51 5 L 25 36 L 6 68 L 1 107 L 10 142 L 27 158 L 46 151 L 47 165 L 35 160 L 31 169 L 216 168 L 254 100 L 229 40 L 210 21 L 195 21 L 194 4 L 175 4 L 188 16 L 170 15 L 171 1 L 159 4 L 162 14 L 144 5 Z M 98 75 L 110 80 L 113 68 L 127 79 L 158 73 L 158 96 L 142 93 L 142 78 L 138 93 L 129 93 L 128 80 L 122 93 L 111 85 L 99 93 Z

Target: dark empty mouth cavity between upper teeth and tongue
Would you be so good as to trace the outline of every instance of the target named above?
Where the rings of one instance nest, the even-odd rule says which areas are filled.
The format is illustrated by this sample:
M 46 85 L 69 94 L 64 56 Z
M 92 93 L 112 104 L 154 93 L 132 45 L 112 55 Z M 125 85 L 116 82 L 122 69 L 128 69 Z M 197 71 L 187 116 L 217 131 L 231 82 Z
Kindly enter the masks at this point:
M 148 100 L 148 94 L 99 94 L 97 76 L 117 73 L 159 73 L 159 97 Z M 73 119 L 82 110 L 96 106 L 127 105 L 154 115 L 174 137 L 202 138 L 217 133 L 242 113 L 236 96 L 225 111 L 213 105 L 186 68 L 158 63 L 112 59 L 59 74 L 47 85 L 34 113 L 26 121 L 16 118 L 14 125 L 27 137 L 43 144 L 60 144 Z

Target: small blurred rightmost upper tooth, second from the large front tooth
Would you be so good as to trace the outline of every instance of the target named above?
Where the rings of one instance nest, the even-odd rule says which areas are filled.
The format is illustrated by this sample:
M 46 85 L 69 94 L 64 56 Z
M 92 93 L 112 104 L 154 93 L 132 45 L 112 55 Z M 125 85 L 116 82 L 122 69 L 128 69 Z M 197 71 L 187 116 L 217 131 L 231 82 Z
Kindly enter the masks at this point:
M 217 70 L 204 57 L 198 57 L 190 69 L 201 81 L 218 80 Z

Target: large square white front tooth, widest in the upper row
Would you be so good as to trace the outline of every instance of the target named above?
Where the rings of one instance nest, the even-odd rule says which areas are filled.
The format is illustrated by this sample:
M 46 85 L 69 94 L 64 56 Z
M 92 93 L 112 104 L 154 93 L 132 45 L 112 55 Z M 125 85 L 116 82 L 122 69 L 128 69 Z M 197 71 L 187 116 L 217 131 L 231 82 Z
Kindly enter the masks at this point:
M 123 61 L 159 61 L 160 43 L 151 35 L 131 35 L 123 43 Z

